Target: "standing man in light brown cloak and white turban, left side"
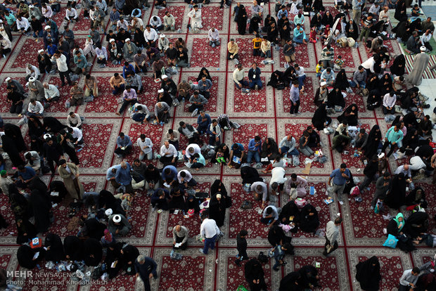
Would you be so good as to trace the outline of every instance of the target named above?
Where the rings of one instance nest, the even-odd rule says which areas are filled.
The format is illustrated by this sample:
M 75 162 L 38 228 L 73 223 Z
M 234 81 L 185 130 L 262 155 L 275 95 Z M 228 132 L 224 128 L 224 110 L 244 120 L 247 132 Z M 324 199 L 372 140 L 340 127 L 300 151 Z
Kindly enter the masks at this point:
M 79 167 L 72 162 L 59 160 L 58 173 L 63 179 L 65 188 L 74 199 L 82 200 L 84 194 L 83 184 L 79 181 Z

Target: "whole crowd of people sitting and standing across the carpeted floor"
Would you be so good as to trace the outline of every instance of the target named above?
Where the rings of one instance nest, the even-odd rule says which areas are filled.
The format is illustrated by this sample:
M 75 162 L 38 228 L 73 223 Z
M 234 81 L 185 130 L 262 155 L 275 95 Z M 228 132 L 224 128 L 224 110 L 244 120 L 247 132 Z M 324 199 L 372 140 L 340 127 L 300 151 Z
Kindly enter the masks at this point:
M 186 0 L 189 4 L 186 18 L 191 32 L 203 29 L 201 8 L 209 2 Z M 20 84 L 13 77 L 5 79 L 10 113 L 20 117 L 19 125 L 27 123 L 30 143 L 25 141 L 20 126 L 4 123 L 2 119 L 0 124 L 4 131 L 1 148 L 7 154 L 0 155 L 0 188 L 8 196 L 8 207 L 15 217 L 20 266 L 34 269 L 41 268 L 39 264 L 44 263 L 47 269 L 74 271 L 77 280 L 86 276 L 101 280 L 110 280 L 120 274 L 136 276 L 141 278 L 146 290 L 150 290 L 150 279 L 157 278 L 158 265 L 152 258 L 140 254 L 134 245 L 123 242 L 132 231 L 134 200 L 139 195 L 148 195 L 152 207 L 149 215 L 167 211 L 171 214 L 181 212 L 186 217 L 200 216 L 200 229 L 188 229 L 180 224 L 172 226 L 172 258 L 183 254 L 188 247 L 188 238 L 195 237 L 198 232 L 198 240 L 204 243 L 198 251 L 207 255 L 224 236 L 226 209 L 233 202 L 219 179 L 212 183 L 208 193 L 200 191 L 195 173 L 212 163 L 217 167 L 240 169 L 243 189 L 252 195 L 241 208 L 249 209 L 252 202 L 259 201 L 259 221 L 268 227 L 271 249 L 267 250 L 267 255 L 250 258 L 247 253 L 250 230 L 238 229 L 238 254 L 234 263 L 242 266 L 246 261 L 244 274 L 250 290 L 267 290 L 263 264 L 271 257 L 275 261 L 274 271 L 286 265 L 286 255 L 294 254 L 293 233 L 323 233 L 326 239 L 323 256 L 329 256 L 338 248 L 342 218 L 335 217 L 321 226 L 318 210 L 306 200 L 313 191 L 307 178 L 295 173 L 286 174 L 286 167 L 299 166 L 301 157 L 326 162 L 328 157 L 321 151 L 326 145 L 321 144 L 320 134 L 331 135 L 331 150 L 342 155 L 354 151 L 354 156 L 360 157 L 364 165 L 364 178 L 359 183 L 347 164 L 340 164 L 326 181 L 328 195 L 343 205 L 347 200 L 345 195 L 361 202 L 366 199 L 363 194 L 368 193 L 368 196 L 372 195 L 368 212 L 387 216 L 389 209 L 396 211 L 398 214 L 386 225 L 389 236 L 385 245 L 389 247 L 398 247 L 404 252 L 411 252 L 422 243 L 434 247 L 436 235 L 428 230 L 433 218 L 425 211 L 432 207 L 425 199 L 426 194 L 432 193 L 425 193 L 415 183 L 426 177 L 432 177 L 432 183 L 436 183 L 436 145 L 432 138 L 436 109 L 432 117 L 424 113 L 430 104 L 418 89 L 430 63 L 428 52 L 432 51 L 430 39 L 435 27 L 431 18 L 421 20 L 418 4 L 410 14 L 407 13 L 410 2 L 338 0 L 335 1 L 334 17 L 325 9 L 322 0 L 313 3 L 312 0 L 278 1 L 275 6 L 269 4 L 269 15 L 264 15 L 265 2 L 253 1 L 250 8 L 240 3 L 234 5 L 232 15 L 238 34 L 247 34 L 248 27 L 248 34 L 253 37 L 252 55 L 264 58 L 264 63 L 271 63 L 274 50 L 281 51 L 286 70 L 275 70 L 269 82 L 263 84 L 262 71 L 254 62 L 248 64 L 251 67 L 245 75 L 238 43 L 229 39 L 226 59 L 228 62 L 233 60 L 235 67 L 230 86 L 244 93 L 262 90 L 264 86 L 287 89 L 290 116 L 298 116 L 300 103 L 312 103 L 312 98 L 316 110 L 312 125 L 302 134 L 278 132 L 278 140 L 253 134 L 247 141 L 226 144 L 225 132 L 238 129 L 241 124 L 232 122 L 231 116 L 225 113 L 212 118 L 205 110 L 210 100 L 222 98 L 214 93 L 217 85 L 213 74 L 207 67 L 202 67 L 194 83 L 181 80 L 177 84 L 172 79 L 178 70 L 190 66 L 190 50 L 184 39 L 172 42 L 162 33 L 181 32 L 182 27 L 176 26 L 169 9 L 162 19 L 152 15 L 150 22 L 144 24 L 142 9 L 150 7 L 148 1 L 85 0 L 80 4 L 68 1 L 63 24 L 58 27 L 53 15 L 61 13 L 60 1 L 36 4 L 5 1 L 0 5 L 0 55 L 6 57 L 11 53 L 11 32 L 44 42 L 37 59 L 25 64 L 26 84 Z M 152 5 L 156 9 L 167 9 L 165 0 L 155 0 Z M 230 5 L 231 1 L 223 0 L 220 9 Z M 83 16 L 77 11 L 80 6 Z M 272 13 L 274 7 L 275 13 Z M 251 13 L 247 13 L 247 9 Z M 390 9 L 395 9 L 395 18 L 399 21 L 393 28 Z M 251 15 L 250 21 L 248 15 Z M 75 32 L 70 29 L 70 23 L 78 22 L 82 17 L 91 22 L 83 47 L 75 42 Z M 307 35 L 304 30 L 310 30 L 310 33 Z M 385 43 L 389 39 L 403 42 L 406 53 L 416 54 L 411 72 L 406 72 L 403 54 L 392 55 Z M 207 41 L 211 48 L 221 45 L 216 28 L 208 30 Z M 316 65 L 319 86 L 314 96 L 305 100 L 306 73 L 298 64 L 296 52 L 307 50 L 308 44 L 318 41 L 323 47 Z M 335 48 L 359 45 L 367 46 L 371 57 L 347 76 L 345 67 L 350 64 L 335 54 Z M 94 56 L 100 68 L 108 62 L 120 65 L 120 72 L 110 77 L 108 84 L 98 84 L 96 74 L 90 72 Z M 432 65 L 430 70 L 434 68 Z M 148 91 L 141 77 L 148 72 L 161 86 L 155 92 L 153 108 L 140 103 L 140 94 Z M 86 192 L 77 155 L 87 146 L 86 130 L 83 131 L 86 119 L 73 108 L 65 119 L 45 114 L 51 104 L 60 102 L 60 91 L 54 84 L 41 82 L 41 77 L 56 73 L 60 86 L 70 88 L 70 96 L 65 102 L 68 108 L 93 102 L 99 96 L 99 87 L 110 86 L 114 98 L 121 103 L 114 114 L 124 116 L 127 110 L 133 122 L 143 124 L 143 127 L 173 122 L 171 112 L 183 102 L 195 120 L 174 124 L 177 129 L 174 127 L 165 132 L 162 144 L 156 144 L 152 135 L 129 136 L 120 132 L 113 153 L 119 162 L 109 167 L 106 174 L 110 190 Z M 84 86 L 79 86 L 80 78 Z M 369 131 L 362 126 L 359 106 L 347 100 L 347 94 L 354 92 L 357 98 L 366 100 L 367 110 L 382 110 L 388 123 L 384 136 L 379 125 Z M 186 147 L 182 148 L 184 141 L 179 143 L 181 139 L 188 141 Z M 134 147 L 139 148 L 137 157 L 132 157 Z M 399 162 L 396 169 L 388 165 L 391 155 Z M 160 162 L 158 167 L 156 161 Z M 260 169 L 265 176 L 259 174 Z M 51 181 L 47 187 L 41 176 L 51 174 L 53 177 L 56 173 L 61 181 Z M 270 176 L 269 181 L 264 179 L 267 176 Z M 375 190 L 371 190 L 371 183 L 375 183 Z M 278 203 L 281 196 L 287 201 L 283 207 Z M 206 198 L 207 203 L 204 202 Z M 68 226 L 77 234 L 62 240 L 51 232 L 50 226 L 55 219 L 52 205 L 64 199 L 73 201 L 68 206 L 72 217 Z M 2 228 L 8 226 L 1 214 L 0 224 Z M 38 238 L 42 233 L 46 233 L 44 242 Z M 395 240 L 394 245 L 390 244 L 391 240 Z M 420 268 L 405 270 L 399 280 L 399 290 L 434 288 L 435 261 L 436 258 Z M 86 268 L 91 269 L 91 276 L 86 275 Z M 318 268 L 307 265 L 288 273 L 281 280 L 279 290 L 321 287 Z M 381 276 L 377 257 L 359 262 L 356 269 L 356 279 L 363 290 L 378 290 Z M 0 278 L 6 278 L 4 272 L 0 272 Z M 0 283 L 8 290 L 20 289 L 16 285 L 6 285 L 6 280 Z

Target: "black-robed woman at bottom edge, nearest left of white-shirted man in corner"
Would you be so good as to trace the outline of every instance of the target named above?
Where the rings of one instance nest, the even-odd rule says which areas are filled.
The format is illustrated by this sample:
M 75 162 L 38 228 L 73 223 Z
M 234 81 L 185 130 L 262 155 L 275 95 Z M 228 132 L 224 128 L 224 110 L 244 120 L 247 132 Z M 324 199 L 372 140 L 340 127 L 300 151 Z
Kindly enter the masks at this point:
M 356 265 L 356 280 L 360 283 L 362 290 L 376 291 L 379 289 L 381 280 L 380 263 L 376 256 L 366 261 L 360 261 Z

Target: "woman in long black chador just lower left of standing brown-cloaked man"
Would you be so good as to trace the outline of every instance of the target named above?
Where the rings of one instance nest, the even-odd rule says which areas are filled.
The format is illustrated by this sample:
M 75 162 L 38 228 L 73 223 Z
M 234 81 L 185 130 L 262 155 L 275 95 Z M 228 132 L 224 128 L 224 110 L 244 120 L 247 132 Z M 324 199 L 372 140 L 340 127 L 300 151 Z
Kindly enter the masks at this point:
M 33 216 L 35 219 L 35 226 L 38 233 L 44 233 L 50 226 L 50 211 L 51 202 L 50 198 L 39 190 L 34 189 L 30 194 L 30 204 L 33 209 Z

